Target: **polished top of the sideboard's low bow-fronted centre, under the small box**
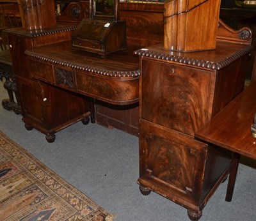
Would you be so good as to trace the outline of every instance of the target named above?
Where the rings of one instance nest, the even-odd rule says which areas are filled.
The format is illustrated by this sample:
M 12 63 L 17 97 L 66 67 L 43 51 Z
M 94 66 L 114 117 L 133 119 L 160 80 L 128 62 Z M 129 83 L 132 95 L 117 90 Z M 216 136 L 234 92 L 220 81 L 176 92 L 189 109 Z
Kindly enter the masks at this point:
M 72 50 L 70 41 L 26 50 L 28 56 L 109 77 L 138 77 L 139 60 L 134 49 L 115 52 L 106 57 L 81 50 Z

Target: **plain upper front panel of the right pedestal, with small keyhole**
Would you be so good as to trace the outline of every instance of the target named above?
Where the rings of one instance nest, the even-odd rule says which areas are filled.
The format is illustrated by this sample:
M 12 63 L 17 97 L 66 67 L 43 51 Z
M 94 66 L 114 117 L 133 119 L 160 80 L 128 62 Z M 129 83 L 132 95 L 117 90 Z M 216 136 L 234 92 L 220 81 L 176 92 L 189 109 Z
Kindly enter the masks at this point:
M 142 60 L 140 118 L 188 135 L 211 118 L 212 72 Z

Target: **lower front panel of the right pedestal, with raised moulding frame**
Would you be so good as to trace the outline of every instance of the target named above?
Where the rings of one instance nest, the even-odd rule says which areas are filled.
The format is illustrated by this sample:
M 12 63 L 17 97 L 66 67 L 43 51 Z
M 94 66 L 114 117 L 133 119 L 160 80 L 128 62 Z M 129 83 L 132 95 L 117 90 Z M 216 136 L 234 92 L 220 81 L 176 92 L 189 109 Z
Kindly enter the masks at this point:
M 164 130 L 147 121 L 140 124 L 140 178 L 154 187 L 199 199 L 204 181 L 207 144 Z

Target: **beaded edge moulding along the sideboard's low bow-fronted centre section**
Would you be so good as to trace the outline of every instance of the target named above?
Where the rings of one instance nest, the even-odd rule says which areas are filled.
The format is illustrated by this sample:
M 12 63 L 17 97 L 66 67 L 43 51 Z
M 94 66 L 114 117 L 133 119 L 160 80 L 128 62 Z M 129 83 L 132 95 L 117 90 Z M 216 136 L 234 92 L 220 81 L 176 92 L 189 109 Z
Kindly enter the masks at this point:
M 135 70 L 135 71 L 131 71 L 131 72 L 115 72 L 115 71 L 110 71 L 110 70 L 93 68 L 93 67 L 81 65 L 78 63 L 70 63 L 68 61 L 63 61 L 61 59 L 54 59 L 54 58 L 48 57 L 48 56 L 41 56 L 39 54 L 36 55 L 36 54 L 33 54 L 33 52 L 26 51 L 25 54 L 27 56 L 33 57 L 35 59 L 40 59 L 41 61 L 48 61 L 50 63 L 54 63 L 57 65 L 64 65 L 64 66 L 68 66 L 70 68 L 76 68 L 77 70 L 85 70 L 87 72 L 93 72 L 93 73 L 97 73 L 100 75 L 106 75 L 108 77 L 139 77 L 140 76 L 140 70 Z

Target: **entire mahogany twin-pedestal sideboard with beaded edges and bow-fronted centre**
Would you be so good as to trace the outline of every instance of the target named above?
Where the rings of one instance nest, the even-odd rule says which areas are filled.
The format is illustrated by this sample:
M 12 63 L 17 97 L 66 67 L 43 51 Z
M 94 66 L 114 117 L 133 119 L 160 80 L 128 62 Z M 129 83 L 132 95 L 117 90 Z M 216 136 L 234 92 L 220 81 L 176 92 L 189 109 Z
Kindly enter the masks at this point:
M 129 4 L 123 5 L 128 8 L 120 13 L 127 23 L 128 50 L 107 57 L 73 51 L 72 26 L 9 30 L 23 120 L 27 128 L 34 126 L 51 137 L 79 119 L 94 120 L 93 107 L 98 117 L 98 107 L 115 106 L 103 111 L 111 116 L 116 107 L 122 112 L 136 110 L 140 102 L 140 190 L 143 194 L 153 190 L 181 204 L 191 220 L 198 220 L 227 177 L 232 156 L 195 140 L 195 131 L 243 91 L 253 47 L 243 45 L 247 38 L 228 43 L 232 34 L 225 37 L 223 30 L 216 50 L 182 53 L 163 50 L 162 44 L 148 47 L 163 37 L 156 33 L 162 12 L 151 5 L 143 14 L 145 5 L 134 6 L 139 22 L 131 17 Z M 251 38 L 248 30 L 233 34 Z M 146 48 L 138 50 L 139 46 Z M 138 119 L 136 114 L 132 118 Z

